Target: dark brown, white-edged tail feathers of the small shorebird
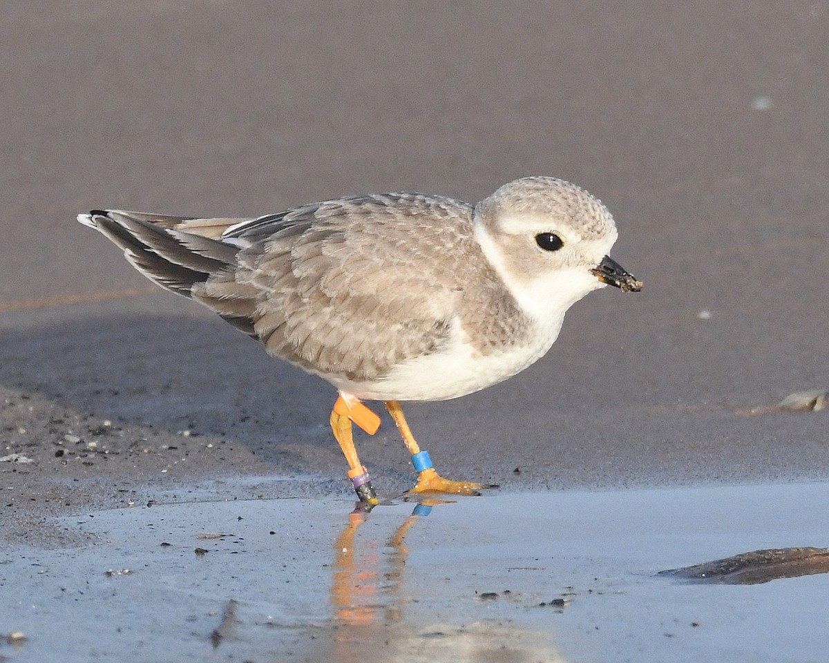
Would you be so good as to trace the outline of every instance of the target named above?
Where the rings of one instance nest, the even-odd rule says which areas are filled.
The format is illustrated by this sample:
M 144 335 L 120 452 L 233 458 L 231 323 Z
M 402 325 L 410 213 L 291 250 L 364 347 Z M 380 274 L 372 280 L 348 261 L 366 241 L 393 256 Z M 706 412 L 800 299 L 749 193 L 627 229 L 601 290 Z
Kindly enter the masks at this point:
M 241 244 L 221 239 L 228 227 L 243 219 L 93 210 L 78 215 L 78 220 L 124 249 L 129 263 L 153 283 L 205 304 L 237 329 L 254 335 L 255 291 L 234 279 Z M 220 283 L 205 288 L 210 278 L 211 283 Z M 212 295 L 207 289 L 221 290 L 221 294 Z

